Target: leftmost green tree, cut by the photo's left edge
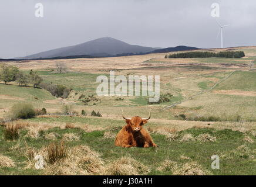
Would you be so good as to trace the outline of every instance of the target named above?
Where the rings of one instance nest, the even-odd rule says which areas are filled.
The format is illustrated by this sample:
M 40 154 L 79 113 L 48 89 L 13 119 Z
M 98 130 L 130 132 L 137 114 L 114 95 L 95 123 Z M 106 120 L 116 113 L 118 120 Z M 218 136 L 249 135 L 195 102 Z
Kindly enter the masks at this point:
M 18 74 L 19 69 L 16 66 L 13 65 L 1 65 L 1 71 L 0 71 L 0 79 L 5 84 L 7 82 L 15 81 L 16 75 Z

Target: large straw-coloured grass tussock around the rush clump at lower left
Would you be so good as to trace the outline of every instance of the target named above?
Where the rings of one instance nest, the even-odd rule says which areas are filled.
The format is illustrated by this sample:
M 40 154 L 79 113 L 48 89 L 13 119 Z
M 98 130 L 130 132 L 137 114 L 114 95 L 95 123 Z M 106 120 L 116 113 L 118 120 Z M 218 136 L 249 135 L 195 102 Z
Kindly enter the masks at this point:
M 56 152 L 56 147 L 53 146 L 52 148 L 53 152 Z M 29 147 L 26 152 L 28 158 L 28 167 L 26 168 L 35 168 L 35 156 L 42 155 L 45 160 L 45 168 L 43 169 L 45 175 L 105 174 L 104 162 L 99 153 L 91 150 L 88 146 L 81 145 L 69 148 L 69 153 L 65 157 L 54 162 L 49 159 L 49 152 L 52 152 L 52 148 L 49 151 L 49 147 L 44 147 L 41 150 Z

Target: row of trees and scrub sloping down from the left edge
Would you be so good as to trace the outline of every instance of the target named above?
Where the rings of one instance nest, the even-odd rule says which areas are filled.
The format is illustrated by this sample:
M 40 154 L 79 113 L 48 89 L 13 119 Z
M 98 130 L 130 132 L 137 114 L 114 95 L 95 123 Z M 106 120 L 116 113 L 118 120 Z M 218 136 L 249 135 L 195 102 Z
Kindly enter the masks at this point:
M 63 68 L 60 72 L 63 72 Z M 37 71 L 31 70 L 29 71 L 29 74 L 25 74 L 23 71 L 19 71 L 19 68 L 14 65 L 0 65 L 0 81 L 4 82 L 4 84 L 15 81 L 19 86 L 28 86 L 31 84 L 33 88 L 46 89 L 53 96 L 61 98 L 67 98 L 70 91 L 72 90 L 63 85 L 45 83 Z

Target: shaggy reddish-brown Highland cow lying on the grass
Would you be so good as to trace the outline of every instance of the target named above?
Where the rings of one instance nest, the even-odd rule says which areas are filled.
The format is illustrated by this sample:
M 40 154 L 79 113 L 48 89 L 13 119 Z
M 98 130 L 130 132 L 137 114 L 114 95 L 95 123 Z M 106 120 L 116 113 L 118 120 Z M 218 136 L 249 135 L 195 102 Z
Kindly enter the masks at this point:
M 124 126 L 116 136 L 114 144 L 120 147 L 159 147 L 155 144 L 146 129 L 143 129 L 143 124 L 150 119 L 151 110 L 148 118 L 139 116 L 126 118 L 126 126 Z

